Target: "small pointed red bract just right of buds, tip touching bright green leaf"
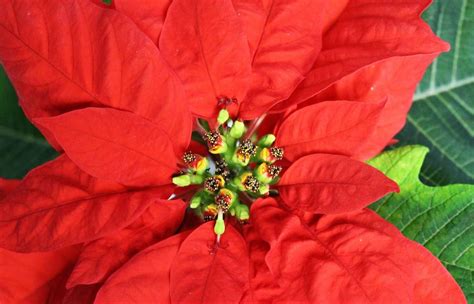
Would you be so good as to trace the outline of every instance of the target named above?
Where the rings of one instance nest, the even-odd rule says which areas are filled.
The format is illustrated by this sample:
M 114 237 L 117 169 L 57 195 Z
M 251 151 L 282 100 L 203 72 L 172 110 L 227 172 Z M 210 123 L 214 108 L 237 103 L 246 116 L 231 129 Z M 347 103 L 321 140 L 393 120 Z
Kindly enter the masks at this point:
M 285 171 L 277 185 L 290 208 L 342 213 L 375 202 L 398 186 L 380 171 L 345 156 L 312 154 Z

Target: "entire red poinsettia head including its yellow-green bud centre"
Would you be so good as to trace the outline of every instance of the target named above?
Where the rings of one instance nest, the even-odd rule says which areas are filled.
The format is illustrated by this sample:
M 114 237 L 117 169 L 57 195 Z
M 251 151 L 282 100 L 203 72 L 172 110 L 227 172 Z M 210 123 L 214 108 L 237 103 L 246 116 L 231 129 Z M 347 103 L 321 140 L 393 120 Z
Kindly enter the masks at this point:
M 465 302 L 364 209 L 399 190 L 364 161 L 449 49 L 429 1 L 0 4 L 0 61 L 61 152 L 0 183 L 5 271 L 54 265 L 0 299 Z

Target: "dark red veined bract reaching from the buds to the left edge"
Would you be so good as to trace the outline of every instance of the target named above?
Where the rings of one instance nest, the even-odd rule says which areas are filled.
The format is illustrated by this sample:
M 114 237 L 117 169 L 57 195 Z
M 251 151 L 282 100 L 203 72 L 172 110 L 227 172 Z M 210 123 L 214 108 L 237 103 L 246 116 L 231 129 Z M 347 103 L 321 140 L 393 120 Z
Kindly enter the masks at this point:
M 61 156 L 32 170 L 1 198 L 0 245 L 32 252 L 92 241 L 131 224 L 169 194 L 164 187 L 129 191 L 85 174 Z

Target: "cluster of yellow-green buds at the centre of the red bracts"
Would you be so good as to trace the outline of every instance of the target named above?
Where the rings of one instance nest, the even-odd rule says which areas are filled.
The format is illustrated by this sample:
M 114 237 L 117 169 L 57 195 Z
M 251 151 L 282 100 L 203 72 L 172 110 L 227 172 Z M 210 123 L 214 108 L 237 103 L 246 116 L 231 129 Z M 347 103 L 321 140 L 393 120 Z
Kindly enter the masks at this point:
M 284 151 L 273 146 L 273 134 L 258 138 L 242 121 L 230 119 L 226 110 L 220 111 L 215 128 L 204 121 L 201 127 L 200 137 L 193 139 L 205 145 L 209 154 L 186 152 L 183 169 L 173 177 L 173 183 L 197 188 L 190 208 L 205 221 L 216 220 L 214 231 L 221 235 L 225 217 L 245 223 L 249 204 L 275 192 L 271 186 L 278 182 L 282 170 L 275 162 L 283 159 Z

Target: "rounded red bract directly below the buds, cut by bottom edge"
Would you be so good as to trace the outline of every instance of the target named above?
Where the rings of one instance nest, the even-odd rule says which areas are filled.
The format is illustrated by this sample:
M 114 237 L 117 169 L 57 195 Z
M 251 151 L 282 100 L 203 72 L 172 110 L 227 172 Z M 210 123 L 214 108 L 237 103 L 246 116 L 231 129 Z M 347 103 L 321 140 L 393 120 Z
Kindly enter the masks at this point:
M 213 227 L 199 226 L 181 245 L 171 266 L 172 302 L 239 303 L 248 278 L 245 241 L 228 224 L 216 246 Z

